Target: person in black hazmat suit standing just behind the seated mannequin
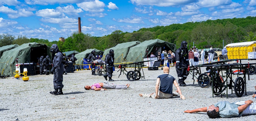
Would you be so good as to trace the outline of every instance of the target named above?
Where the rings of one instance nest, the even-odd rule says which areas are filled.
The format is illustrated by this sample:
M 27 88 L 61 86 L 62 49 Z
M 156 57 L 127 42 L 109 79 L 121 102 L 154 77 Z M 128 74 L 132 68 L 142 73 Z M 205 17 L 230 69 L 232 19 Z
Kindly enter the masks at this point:
M 180 48 L 178 48 L 175 52 L 175 59 L 176 59 L 175 67 L 176 67 L 176 72 L 179 78 L 178 80 L 179 86 L 187 86 L 186 83 L 184 82 L 188 74 L 187 68 L 184 68 L 184 67 L 188 67 L 189 65 L 187 45 L 188 43 L 186 41 L 182 41 Z M 184 69 L 180 69 L 180 68 L 184 68 Z

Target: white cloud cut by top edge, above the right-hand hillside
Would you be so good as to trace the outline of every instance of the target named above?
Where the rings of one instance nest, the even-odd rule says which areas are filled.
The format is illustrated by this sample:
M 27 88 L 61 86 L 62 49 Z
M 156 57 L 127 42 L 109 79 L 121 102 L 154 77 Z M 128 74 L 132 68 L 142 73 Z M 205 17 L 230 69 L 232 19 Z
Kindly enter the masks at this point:
M 231 2 L 231 0 L 199 0 L 197 4 L 200 5 L 200 7 L 214 7 L 228 5 L 231 4 Z

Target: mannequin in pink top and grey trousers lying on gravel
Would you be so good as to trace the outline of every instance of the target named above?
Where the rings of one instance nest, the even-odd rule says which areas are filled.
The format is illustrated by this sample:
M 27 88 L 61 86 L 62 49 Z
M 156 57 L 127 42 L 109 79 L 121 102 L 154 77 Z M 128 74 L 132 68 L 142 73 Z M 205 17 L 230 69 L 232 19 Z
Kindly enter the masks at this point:
M 107 90 L 107 89 L 127 89 L 130 86 L 130 84 L 126 85 L 116 85 L 112 83 L 108 83 L 107 81 L 104 81 L 103 83 L 95 83 L 92 86 L 86 85 L 84 86 L 84 89 L 86 90 L 95 90 L 99 91 L 101 89 Z

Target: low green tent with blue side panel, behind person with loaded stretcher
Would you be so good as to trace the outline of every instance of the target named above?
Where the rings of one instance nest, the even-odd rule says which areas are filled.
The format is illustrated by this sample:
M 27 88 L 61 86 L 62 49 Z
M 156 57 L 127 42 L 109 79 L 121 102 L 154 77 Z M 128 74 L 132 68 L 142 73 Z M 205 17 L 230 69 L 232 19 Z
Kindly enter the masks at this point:
M 82 51 L 78 54 L 75 55 L 75 57 L 77 58 L 76 64 L 83 64 L 83 58 L 87 59 L 89 54 L 92 52 L 92 50 L 95 50 L 95 55 L 103 55 L 103 51 L 101 50 L 97 50 L 97 49 L 87 49 L 85 51 Z

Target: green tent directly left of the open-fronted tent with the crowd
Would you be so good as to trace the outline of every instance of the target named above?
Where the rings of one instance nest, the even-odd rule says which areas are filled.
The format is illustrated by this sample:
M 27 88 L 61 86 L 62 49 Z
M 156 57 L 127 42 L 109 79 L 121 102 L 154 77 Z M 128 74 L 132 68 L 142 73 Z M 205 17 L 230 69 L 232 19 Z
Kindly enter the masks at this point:
M 125 62 L 125 59 L 127 57 L 127 54 L 130 50 L 131 47 L 140 44 L 140 41 L 133 41 L 133 42 L 126 42 L 126 43 L 120 43 L 117 44 L 116 46 L 106 49 L 103 53 L 104 57 L 109 53 L 109 50 L 112 49 L 114 50 L 115 53 L 115 62 L 114 63 L 121 63 Z M 103 58 L 104 59 L 104 58 Z

